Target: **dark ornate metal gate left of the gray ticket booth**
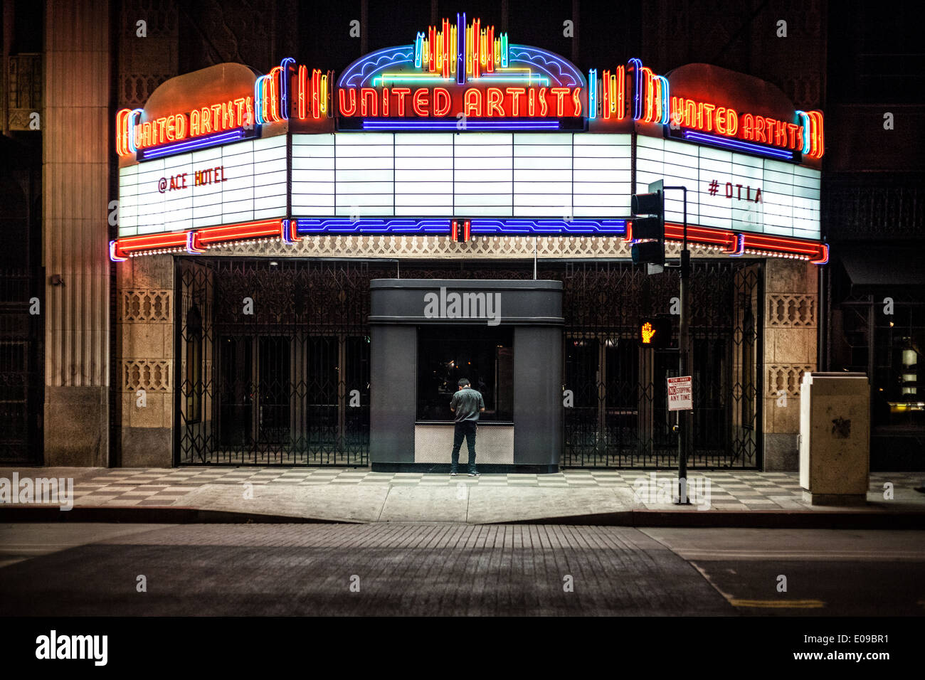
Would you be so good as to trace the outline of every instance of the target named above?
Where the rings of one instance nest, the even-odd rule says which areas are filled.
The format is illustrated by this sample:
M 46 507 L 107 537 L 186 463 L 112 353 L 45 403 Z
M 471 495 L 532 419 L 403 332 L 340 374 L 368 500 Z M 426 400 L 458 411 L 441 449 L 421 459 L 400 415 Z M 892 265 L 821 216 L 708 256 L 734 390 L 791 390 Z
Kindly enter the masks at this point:
M 385 266 L 181 260 L 179 463 L 368 464 L 369 280 Z

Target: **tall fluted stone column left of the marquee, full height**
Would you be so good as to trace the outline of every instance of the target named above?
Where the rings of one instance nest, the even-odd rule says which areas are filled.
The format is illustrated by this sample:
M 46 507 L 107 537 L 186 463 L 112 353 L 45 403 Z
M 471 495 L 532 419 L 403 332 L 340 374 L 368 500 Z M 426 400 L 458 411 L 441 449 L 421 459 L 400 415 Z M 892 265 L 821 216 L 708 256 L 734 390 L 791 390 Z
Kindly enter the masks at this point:
M 105 466 L 109 3 L 46 0 L 44 48 L 44 461 Z

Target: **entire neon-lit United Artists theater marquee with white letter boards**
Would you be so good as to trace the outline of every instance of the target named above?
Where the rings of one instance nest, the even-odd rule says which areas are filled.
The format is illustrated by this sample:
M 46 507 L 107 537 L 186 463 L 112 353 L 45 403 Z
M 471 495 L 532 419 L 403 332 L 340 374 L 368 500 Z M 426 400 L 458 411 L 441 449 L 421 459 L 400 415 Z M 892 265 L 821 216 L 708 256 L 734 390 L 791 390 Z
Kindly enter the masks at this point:
M 585 74 L 465 15 L 339 77 L 290 58 L 179 76 L 116 128 L 114 260 L 320 233 L 629 239 L 630 196 L 655 179 L 688 188 L 692 241 L 828 255 L 820 112 L 703 64 Z M 682 207 L 668 197 L 669 240 Z

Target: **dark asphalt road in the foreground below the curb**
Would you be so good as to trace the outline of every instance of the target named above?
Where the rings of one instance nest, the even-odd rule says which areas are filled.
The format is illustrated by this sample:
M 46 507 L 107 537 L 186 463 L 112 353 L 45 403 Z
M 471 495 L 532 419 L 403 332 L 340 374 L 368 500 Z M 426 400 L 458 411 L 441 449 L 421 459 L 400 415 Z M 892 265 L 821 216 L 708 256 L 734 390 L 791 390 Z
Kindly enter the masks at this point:
M 922 615 L 925 532 L 0 525 L 0 614 Z

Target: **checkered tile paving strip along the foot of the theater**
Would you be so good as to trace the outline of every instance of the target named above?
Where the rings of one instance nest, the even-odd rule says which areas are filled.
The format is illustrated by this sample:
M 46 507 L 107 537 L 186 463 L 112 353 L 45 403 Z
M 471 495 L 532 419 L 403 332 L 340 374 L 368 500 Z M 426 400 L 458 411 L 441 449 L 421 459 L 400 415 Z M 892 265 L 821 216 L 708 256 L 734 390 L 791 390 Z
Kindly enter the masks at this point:
M 46 473 L 49 474 L 49 473 Z M 675 473 L 660 470 L 657 480 L 673 478 Z M 613 488 L 633 489 L 649 484 L 653 473 L 646 470 L 567 470 L 555 475 L 378 473 L 346 468 L 200 468 L 101 470 L 75 483 L 75 503 L 79 505 L 182 505 L 183 498 L 205 484 L 261 485 L 388 485 L 392 487 L 446 487 L 472 484 L 479 487 L 536 488 Z M 801 509 L 799 477 L 796 472 L 693 471 L 690 483 L 709 479 L 712 507 L 719 510 Z M 870 490 L 882 491 L 884 482 L 896 488 L 922 484 L 925 473 L 873 473 Z M 642 480 L 641 482 L 639 480 Z

